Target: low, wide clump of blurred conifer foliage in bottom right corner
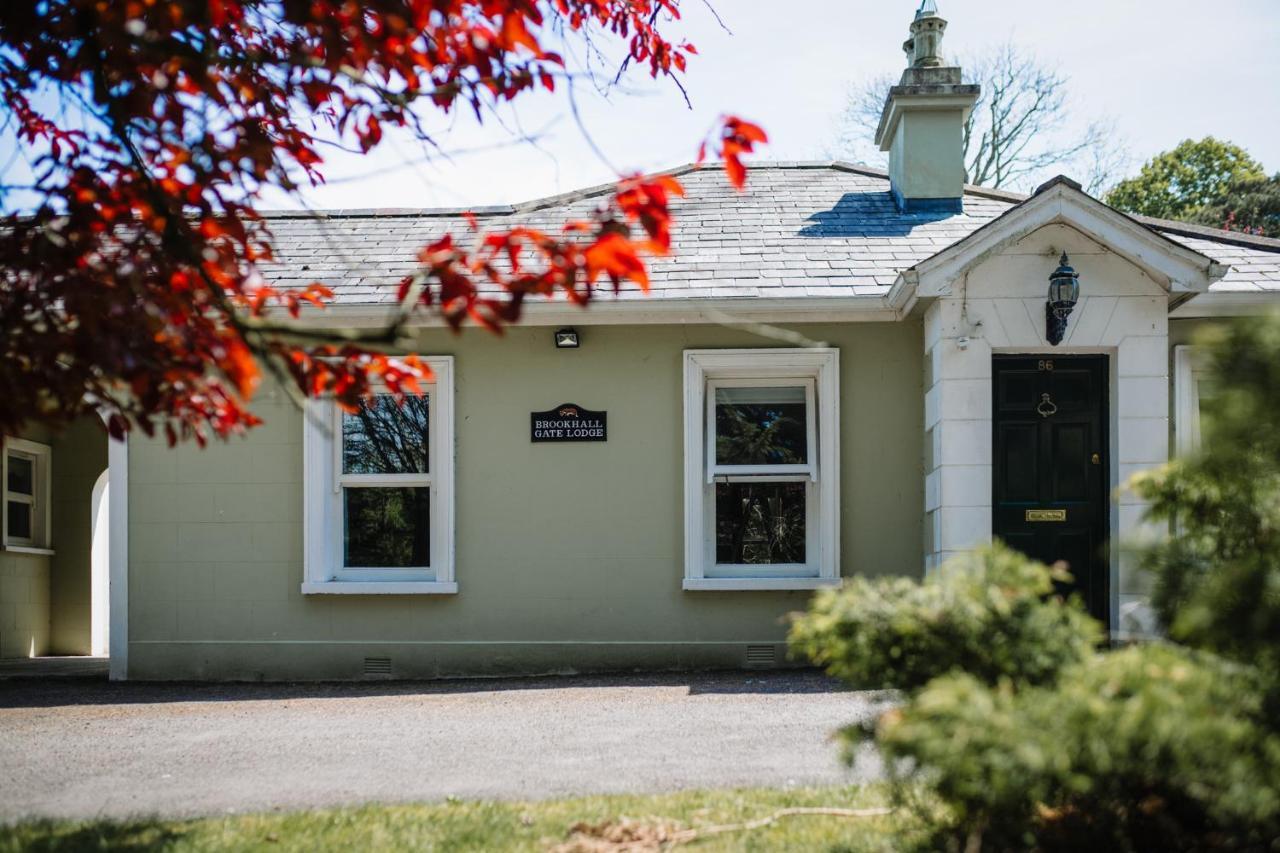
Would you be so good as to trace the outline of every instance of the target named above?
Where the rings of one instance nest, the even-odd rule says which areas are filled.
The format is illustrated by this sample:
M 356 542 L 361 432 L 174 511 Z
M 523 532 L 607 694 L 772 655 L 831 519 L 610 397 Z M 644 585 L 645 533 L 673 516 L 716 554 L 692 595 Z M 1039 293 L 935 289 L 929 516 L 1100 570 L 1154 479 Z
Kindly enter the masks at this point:
M 946 803 L 936 840 L 954 848 L 1268 850 L 1280 736 L 1258 688 L 1215 656 L 1133 647 L 1052 685 L 938 678 L 876 740 L 899 788 Z

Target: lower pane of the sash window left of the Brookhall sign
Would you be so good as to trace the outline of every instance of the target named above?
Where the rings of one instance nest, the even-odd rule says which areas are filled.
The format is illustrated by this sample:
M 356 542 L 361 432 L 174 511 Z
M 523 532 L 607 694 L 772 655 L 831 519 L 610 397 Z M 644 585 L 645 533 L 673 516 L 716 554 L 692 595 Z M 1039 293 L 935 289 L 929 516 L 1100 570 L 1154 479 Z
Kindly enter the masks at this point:
M 343 489 L 343 565 L 431 565 L 431 489 Z

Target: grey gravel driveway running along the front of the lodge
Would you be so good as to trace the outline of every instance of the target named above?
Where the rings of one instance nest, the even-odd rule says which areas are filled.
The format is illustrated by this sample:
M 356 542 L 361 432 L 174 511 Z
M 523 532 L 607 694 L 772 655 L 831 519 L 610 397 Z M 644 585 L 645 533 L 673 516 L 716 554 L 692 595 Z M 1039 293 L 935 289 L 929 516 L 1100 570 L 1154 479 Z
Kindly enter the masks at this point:
M 813 672 L 323 685 L 0 681 L 0 821 L 874 776 Z

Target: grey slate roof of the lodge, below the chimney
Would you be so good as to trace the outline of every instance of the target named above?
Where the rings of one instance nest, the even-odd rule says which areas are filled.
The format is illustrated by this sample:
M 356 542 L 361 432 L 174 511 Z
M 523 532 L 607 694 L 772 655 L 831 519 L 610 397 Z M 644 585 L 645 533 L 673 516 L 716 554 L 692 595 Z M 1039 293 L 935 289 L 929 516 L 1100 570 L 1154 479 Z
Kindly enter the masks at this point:
M 998 218 L 1024 196 L 970 187 L 957 215 L 902 214 L 886 173 L 844 163 L 754 164 L 746 192 L 718 167 L 672 170 L 686 196 L 673 207 L 673 255 L 650 265 L 648 298 L 881 297 L 897 274 Z M 547 231 L 588 215 L 612 186 L 474 207 L 484 229 Z M 465 237 L 462 210 L 329 210 L 266 214 L 278 286 L 320 280 L 339 305 L 390 302 L 415 255 L 445 232 Z M 1213 291 L 1280 292 L 1280 241 L 1184 223 L 1149 228 L 1231 266 Z M 645 298 L 628 287 L 622 300 Z

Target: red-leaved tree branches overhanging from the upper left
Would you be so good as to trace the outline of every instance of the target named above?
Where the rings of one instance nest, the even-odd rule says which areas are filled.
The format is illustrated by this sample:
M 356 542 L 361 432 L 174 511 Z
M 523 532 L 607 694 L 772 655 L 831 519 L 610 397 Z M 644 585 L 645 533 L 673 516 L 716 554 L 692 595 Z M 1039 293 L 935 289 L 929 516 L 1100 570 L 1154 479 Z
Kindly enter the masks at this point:
M 257 423 L 266 366 L 353 407 L 372 382 L 429 371 L 389 356 L 415 311 L 454 328 L 516 321 L 529 296 L 586 302 L 648 286 L 671 247 L 671 178 L 621 175 L 558 233 L 445 234 L 420 252 L 393 319 L 316 336 L 292 318 L 323 282 L 270 287 L 262 191 L 323 181 L 323 151 L 370 151 L 384 128 L 425 146 L 456 109 L 477 118 L 590 74 L 564 55 L 676 79 L 696 53 L 668 38 L 680 0 L 44 0 L 0 4 L 0 133 L 29 161 L 28 214 L 0 222 L 0 429 L 104 412 L 110 432 L 170 442 Z M 585 42 L 585 51 L 553 47 Z M 609 58 L 609 50 L 616 51 Z M 622 72 L 618 72 L 620 76 Z M 612 77 L 612 73 L 611 73 Z M 433 119 L 435 119 L 433 124 Z M 763 132 L 736 118 L 701 154 L 741 186 Z M 500 297 L 481 296 L 479 283 Z

